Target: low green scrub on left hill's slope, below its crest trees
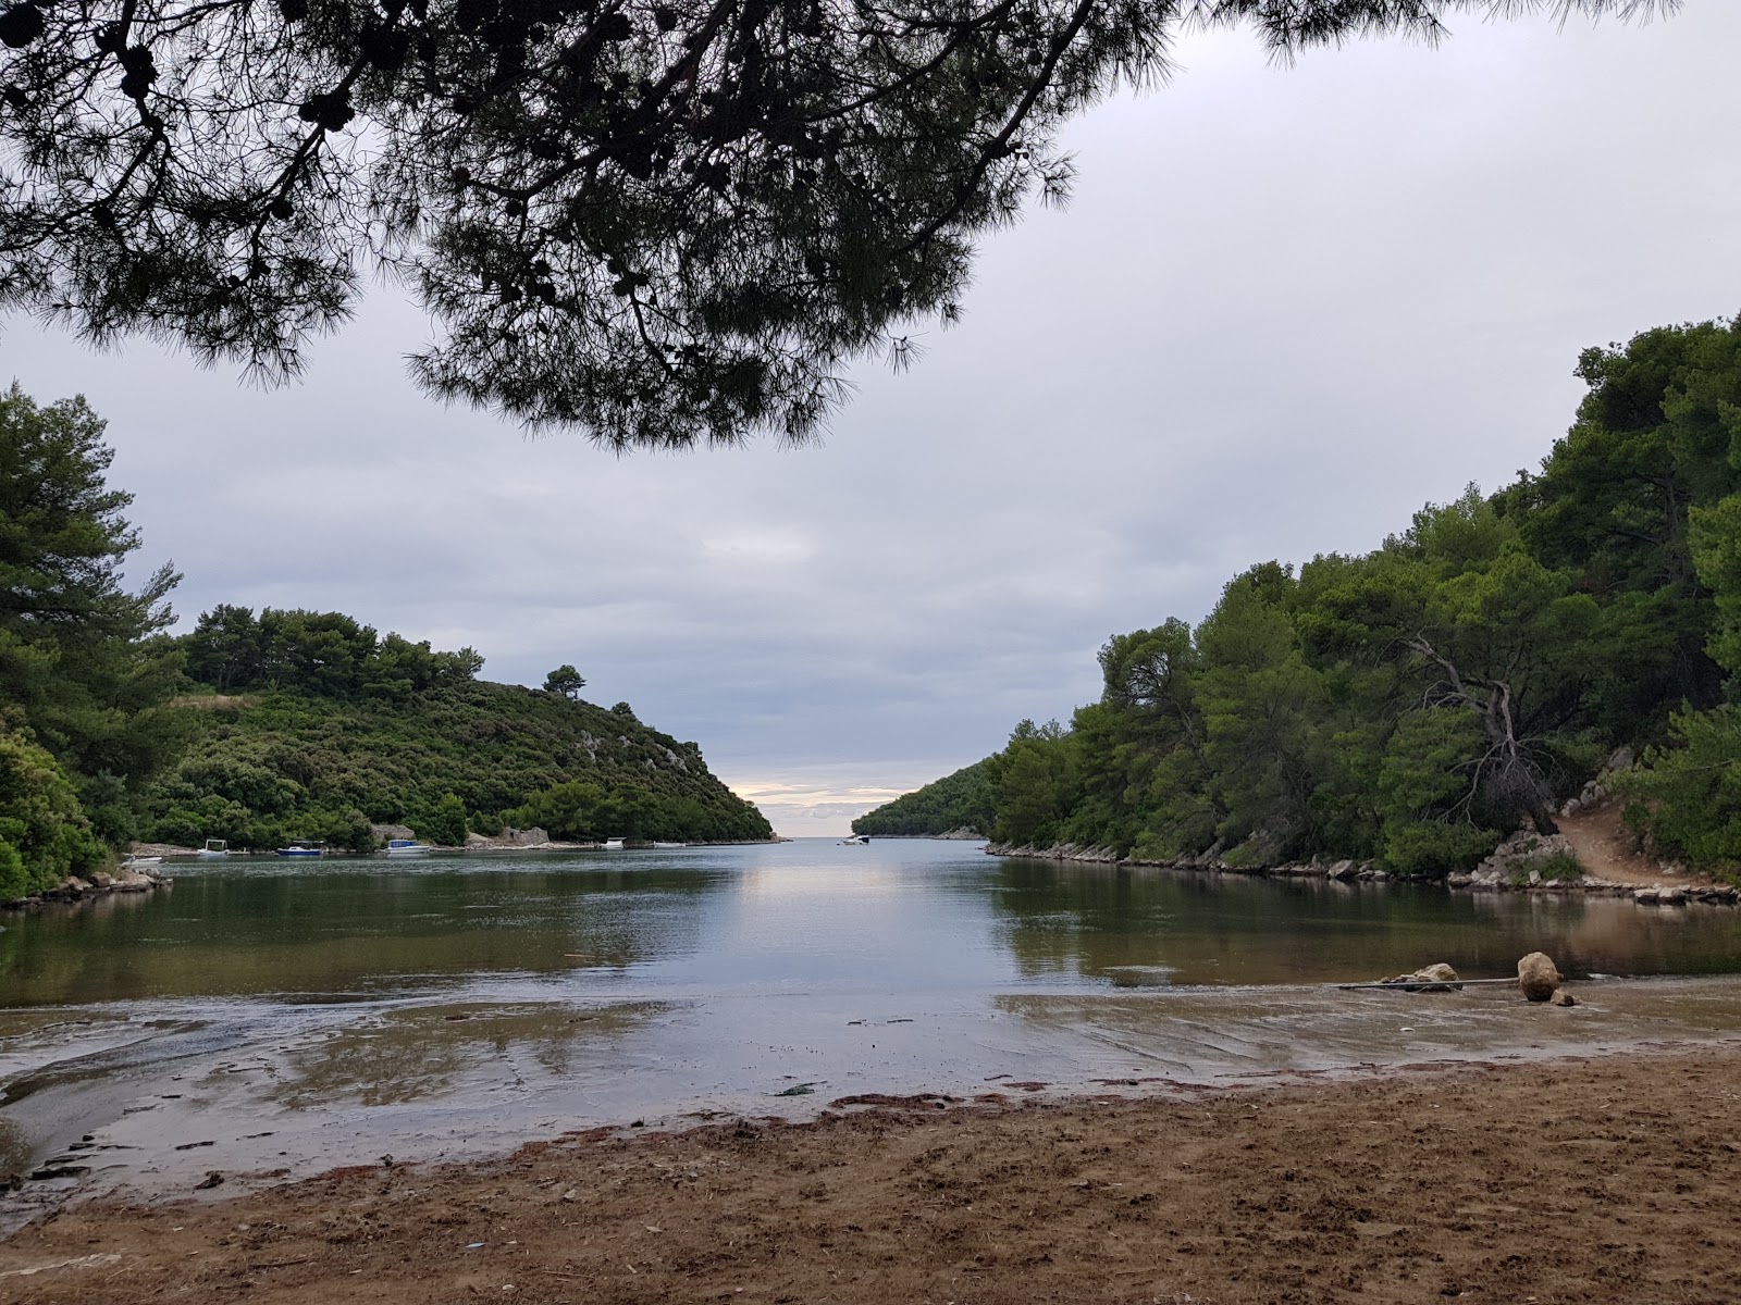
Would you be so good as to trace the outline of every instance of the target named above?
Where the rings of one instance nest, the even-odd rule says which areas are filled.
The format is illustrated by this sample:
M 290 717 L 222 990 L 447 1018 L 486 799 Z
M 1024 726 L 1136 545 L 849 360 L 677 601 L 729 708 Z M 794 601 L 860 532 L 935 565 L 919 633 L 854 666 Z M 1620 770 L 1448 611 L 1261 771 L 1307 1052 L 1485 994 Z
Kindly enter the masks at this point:
M 541 689 L 461 680 L 393 699 L 277 691 L 179 701 L 198 727 L 146 793 L 146 839 L 360 849 L 371 821 L 439 842 L 503 825 L 568 839 L 771 837 L 695 743 Z

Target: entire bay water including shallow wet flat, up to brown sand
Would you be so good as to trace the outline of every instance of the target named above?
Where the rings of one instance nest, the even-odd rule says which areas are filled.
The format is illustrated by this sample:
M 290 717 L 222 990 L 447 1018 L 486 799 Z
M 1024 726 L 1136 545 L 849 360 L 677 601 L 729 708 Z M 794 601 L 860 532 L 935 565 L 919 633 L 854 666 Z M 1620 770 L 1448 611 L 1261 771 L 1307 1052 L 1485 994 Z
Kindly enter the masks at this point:
M 1577 976 L 1731 974 L 1731 908 L 1119 872 L 928 840 L 174 873 L 169 893 L 3 919 L 0 1171 L 82 1133 L 117 1148 L 117 1181 L 150 1187 L 190 1166 L 460 1154 L 775 1098 L 789 1112 L 850 1091 L 1203 1081 L 1741 1027 L 1727 981 L 1645 985 L 1556 1023 L 1515 995 L 1314 987 L 1433 960 L 1506 976 L 1537 948 Z M 214 1148 L 174 1152 L 205 1133 Z

